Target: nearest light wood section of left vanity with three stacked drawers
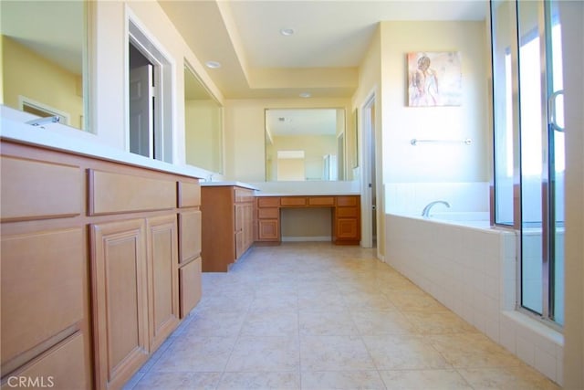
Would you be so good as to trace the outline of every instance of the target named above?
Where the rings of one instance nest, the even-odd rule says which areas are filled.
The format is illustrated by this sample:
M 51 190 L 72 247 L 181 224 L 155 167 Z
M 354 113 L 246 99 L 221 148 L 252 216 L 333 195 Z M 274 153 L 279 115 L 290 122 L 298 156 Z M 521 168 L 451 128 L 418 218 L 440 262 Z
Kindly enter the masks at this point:
M 83 171 L 1 146 L 2 388 L 11 376 L 90 388 L 89 237 L 74 222 L 84 213 Z

